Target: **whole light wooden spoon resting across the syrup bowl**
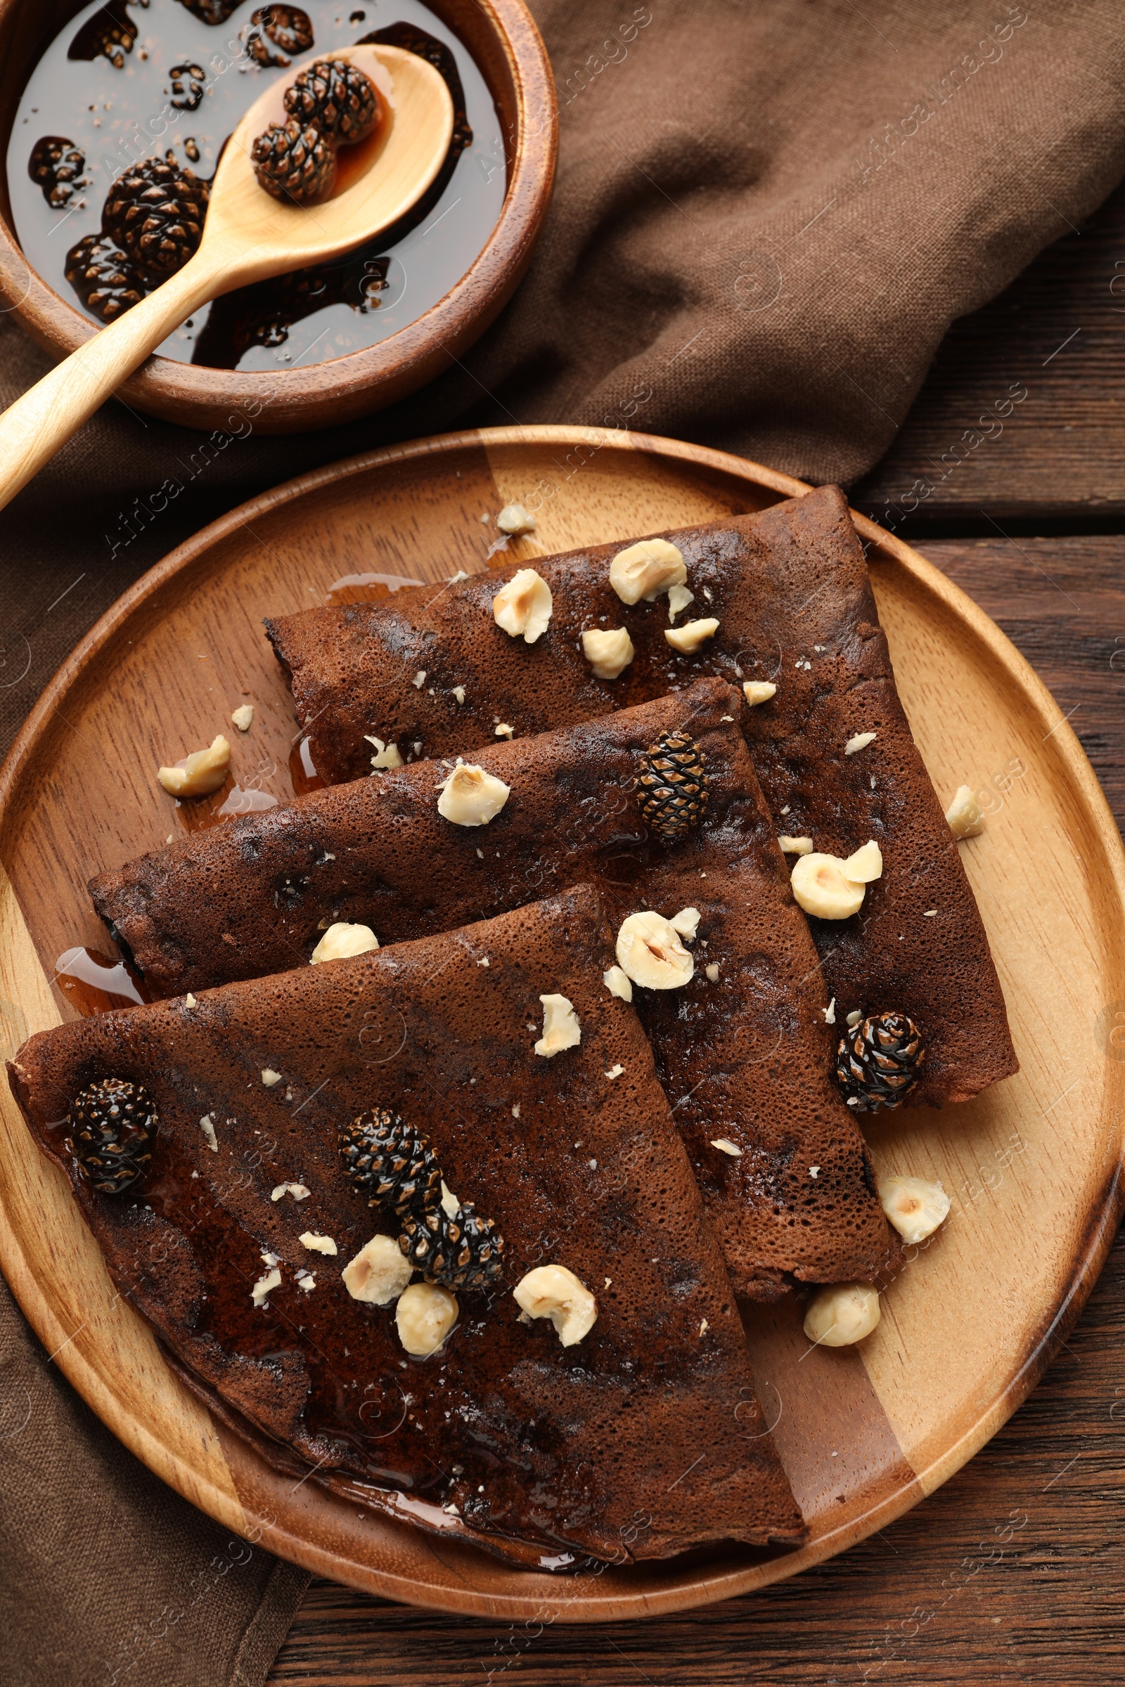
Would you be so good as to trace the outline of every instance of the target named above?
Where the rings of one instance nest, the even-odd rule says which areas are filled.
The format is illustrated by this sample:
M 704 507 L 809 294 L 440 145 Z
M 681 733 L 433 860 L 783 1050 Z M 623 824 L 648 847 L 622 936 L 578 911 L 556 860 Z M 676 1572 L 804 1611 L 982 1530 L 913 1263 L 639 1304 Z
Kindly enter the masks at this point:
M 351 59 L 376 84 L 386 111 L 373 142 L 341 150 L 342 191 L 299 206 L 283 204 L 258 186 L 250 148 L 256 135 L 285 116 L 282 93 L 288 83 L 275 83 L 251 105 L 223 150 L 199 251 L 0 417 L 0 509 L 201 305 L 233 287 L 336 258 L 374 240 L 433 182 L 454 133 L 454 101 L 439 71 L 401 47 L 342 47 L 315 59 Z M 293 76 L 299 69 L 293 67 Z

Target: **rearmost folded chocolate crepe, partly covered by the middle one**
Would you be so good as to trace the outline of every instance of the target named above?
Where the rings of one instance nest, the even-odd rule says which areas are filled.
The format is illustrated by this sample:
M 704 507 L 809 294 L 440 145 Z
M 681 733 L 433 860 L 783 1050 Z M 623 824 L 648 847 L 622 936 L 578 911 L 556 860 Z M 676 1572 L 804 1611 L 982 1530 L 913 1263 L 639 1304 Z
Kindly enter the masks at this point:
M 661 536 L 683 553 L 693 592 L 676 624 L 719 623 L 693 653 L 665 638 L 668 596 L 629 606 L 614 592 L 621 545 L 533 560 L 552 616 L 531 644 L 493 617 L 518 563 L 268 621 L 317 773 L 358 778 L 371 763 L 368 736 L 405 759 L 464 754 L 496 722 L 523 736 L 702 675 L 772 682 L 776 695 L 744 705 L 742 724 L 778 832 L 842 859 L 874 838 L 884 857 L 860 914 L 811 921 L 838 1021 L 855 1009 L 916 1021 L 928 1053 L 907 1105 L 963 1102 L 1010 1076 L 1017 1061 L 988 941 L 896 692 L 843 493 L 825 486 Z M 634 656 L 599 680 L 582 633 L 612 628 L 627 629 Z

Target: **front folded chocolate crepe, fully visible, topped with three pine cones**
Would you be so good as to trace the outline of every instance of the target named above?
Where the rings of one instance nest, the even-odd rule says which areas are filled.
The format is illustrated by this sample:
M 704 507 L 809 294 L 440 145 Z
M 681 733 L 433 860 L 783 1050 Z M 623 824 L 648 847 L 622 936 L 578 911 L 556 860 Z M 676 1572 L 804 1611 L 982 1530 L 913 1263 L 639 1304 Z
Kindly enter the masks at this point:
M 552 1564 L 796 1542 L 722 1255 L 638 1017 L 602 984 L 611 963 L 599 899 L 577 887 L 59 1026 L 24 1044 L 12 1086 L 120 1291 L 315 1479 Z M 536 1053 L 543 995 L 568 1000 L 577 1046 Z M 66 1145 L 74 1098 L 103 1078 L 142 1085 L 159 1113 L 150 1166 L 118 1194 Z M 353 1299 L 344 1280 L 374 1233 L 401 1228 L 341 1156 L 368 1108 L 428 1135 L 447 1189 L 506 1243 L 503 1279 L 459 1291 L 428 1358 L 405 1351 L 405 1302 Z M 597 1302 L 567 1346 L 513 1297 L 546 1264 Z

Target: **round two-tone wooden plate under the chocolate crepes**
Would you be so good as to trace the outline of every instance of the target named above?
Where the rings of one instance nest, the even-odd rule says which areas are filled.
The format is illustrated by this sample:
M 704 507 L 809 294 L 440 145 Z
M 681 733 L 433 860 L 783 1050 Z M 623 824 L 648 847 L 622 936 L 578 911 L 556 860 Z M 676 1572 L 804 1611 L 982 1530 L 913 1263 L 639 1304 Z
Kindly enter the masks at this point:
M 106 948 L 94 869 L 179 820 L 155 783 L 255 702 L 241 784 L 290 795 L 293 712 L 261 616 L 347 575 L 486 565 L 518 499 L 536 533 L 501 560 L 757 509 L 798 481 L 720 452 L 597 428 L 496 428 L 354 457 L 245 504 L 147 574 L 54 678 L 0 774 L 0 1043 L 73 1012 L 56 957 Z M 552 1577 L 358 1513 L 277 1476 L 177 1380 L 113 1291 L 62 1176 L 0 1100 L 0 1259 L 47 1351 L 157 1474 L 251 1540 L 373 1593 L 477 1616 L 590 1621 L 675 1611 L 791 1576 L 906 1512 L 1027 1395 L 1076 1318 L 1122 1210 L 1125 857 L 1058 705 L 924 558 L 860 520 L 899 688 L 938 791 L 990 810 L 963 845 L 1022 1063 L 945 1113 L 872 1127 L 880 1169 L 939 1178 L 945 1228 L 884 1297 L 862 1348 L 810 1351 L 789 1299 L 751 1311 L 776 1439 L 811 1525 L 794 1554 Z M 383 587 L 368 584 L 366 594 Z M 349 587 L 339 587 L 349 590 Z M 231 734 L 234 736 L 234 734 Z

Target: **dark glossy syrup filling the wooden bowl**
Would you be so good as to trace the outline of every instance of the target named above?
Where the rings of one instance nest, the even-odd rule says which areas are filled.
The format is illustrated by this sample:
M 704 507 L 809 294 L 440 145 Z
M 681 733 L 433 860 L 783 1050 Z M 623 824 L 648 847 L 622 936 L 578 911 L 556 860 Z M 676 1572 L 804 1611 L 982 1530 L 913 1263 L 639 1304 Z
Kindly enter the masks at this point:
M 263 20 L 272 22 L 270 32 Z M 312 46 L 299 47 L 309 34 Z M 106 0 L 84 7 L 35 66 L 8 143 L 12 214 L 30 265 L 59 297 L 101 324 L 66 278 L 67 253 L 83 238 L 100 236 L 101 208 L 116 177 L 142 159 L 170 155 L 179 169 L 207 181 L 226 137 L 266 88 L 280 93 L 297 64 L 359 40 L 420 52 L 445 76 L 454 142 L 437 182 L 381 240 L 226 294 L 177 327 L 159 354 L 275 373 L 376 346 L 415 322 L 476 261 L 506 187 L 501 121 L 484 78 L 418 0 L 305 0 L 304 7 Z

